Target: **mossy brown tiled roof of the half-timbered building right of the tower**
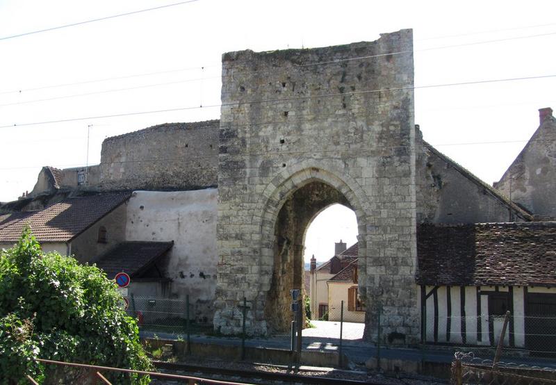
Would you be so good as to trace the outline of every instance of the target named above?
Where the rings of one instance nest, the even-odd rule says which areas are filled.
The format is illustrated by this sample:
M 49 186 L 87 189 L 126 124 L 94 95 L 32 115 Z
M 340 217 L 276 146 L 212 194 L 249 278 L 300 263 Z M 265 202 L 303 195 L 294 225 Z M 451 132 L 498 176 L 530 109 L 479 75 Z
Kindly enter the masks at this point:
M 416 281 L 454 286 L 556 286 L 556 222 L 423 224 Z

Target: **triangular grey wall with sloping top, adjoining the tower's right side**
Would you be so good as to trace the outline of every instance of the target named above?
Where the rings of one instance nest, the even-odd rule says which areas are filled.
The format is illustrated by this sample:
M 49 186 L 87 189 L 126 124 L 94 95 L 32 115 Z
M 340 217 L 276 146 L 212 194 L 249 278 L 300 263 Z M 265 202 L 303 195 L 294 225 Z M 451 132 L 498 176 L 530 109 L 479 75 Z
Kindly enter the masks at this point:
M 471 172 L 423 142 L 419 133 L 416 143 L 418 222 L 518 222 L 529 218 Z

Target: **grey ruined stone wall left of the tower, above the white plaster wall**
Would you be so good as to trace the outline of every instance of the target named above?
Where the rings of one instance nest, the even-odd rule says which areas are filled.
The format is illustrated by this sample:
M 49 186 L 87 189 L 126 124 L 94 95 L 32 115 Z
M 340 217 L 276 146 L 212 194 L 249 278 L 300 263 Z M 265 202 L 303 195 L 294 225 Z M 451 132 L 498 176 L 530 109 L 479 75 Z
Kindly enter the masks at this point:
M 161 124 L 107 138 L 103 190 L 191 190 L 217 183 L 218 120 Z

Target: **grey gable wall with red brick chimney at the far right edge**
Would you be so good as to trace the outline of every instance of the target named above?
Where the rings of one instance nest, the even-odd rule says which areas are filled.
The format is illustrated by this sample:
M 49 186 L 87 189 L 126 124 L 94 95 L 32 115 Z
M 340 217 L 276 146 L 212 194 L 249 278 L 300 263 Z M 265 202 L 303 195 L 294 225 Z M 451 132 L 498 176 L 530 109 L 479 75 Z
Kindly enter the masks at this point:
M 556 119 L 546 117 L 528 144 L 495 183 L 500 193 L 541 219 L 556 219 Z M 545 110 L 543 108 L 543 110 Z

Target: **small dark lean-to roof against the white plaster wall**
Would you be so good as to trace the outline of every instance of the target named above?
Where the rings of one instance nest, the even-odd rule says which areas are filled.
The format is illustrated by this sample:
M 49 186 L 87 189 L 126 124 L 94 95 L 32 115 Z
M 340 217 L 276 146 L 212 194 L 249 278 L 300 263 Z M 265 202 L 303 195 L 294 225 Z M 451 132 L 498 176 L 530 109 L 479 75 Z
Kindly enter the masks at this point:
M 172 248 L 171 242 L 124 242 L 105 254 L 97 266 L 113 279 L 118 272 L 126 272 L 129 277 L 140 277 L 156 261 Z

